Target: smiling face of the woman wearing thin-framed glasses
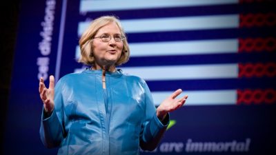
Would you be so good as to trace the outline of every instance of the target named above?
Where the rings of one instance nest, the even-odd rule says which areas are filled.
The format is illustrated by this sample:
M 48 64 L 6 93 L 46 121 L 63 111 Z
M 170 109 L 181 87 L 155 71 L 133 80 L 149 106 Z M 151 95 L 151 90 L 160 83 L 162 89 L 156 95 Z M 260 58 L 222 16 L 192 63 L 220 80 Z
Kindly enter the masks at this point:
M 116 42 L 113 36 L 120 36 L 121 31 L 116 23 L 108 23 L 108 25 L 100 28 L 95 37 L 101 37 L 103 34 L 111 36 L 110 41 L 103 42 L 101 38 L 93 39 L 93 54 L 95 56 L 96 65 L 115 66 L 115 63 L 121 56 L 123 50 L 123 42 Z

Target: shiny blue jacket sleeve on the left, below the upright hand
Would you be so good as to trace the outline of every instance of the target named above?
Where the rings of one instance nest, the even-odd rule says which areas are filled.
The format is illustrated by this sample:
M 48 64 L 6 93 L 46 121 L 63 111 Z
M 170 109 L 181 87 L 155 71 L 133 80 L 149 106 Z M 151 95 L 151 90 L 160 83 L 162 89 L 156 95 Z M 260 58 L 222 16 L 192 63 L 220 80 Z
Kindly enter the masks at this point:
M 48 148 L 58 147 L 63 139 L 64 123 L 63 123 L 63 100 L 61 94 L 61 82 L 55 86 L 55 108 L 49 117 L 41 115 L 41 125 L 39 134 L 43 145 Z

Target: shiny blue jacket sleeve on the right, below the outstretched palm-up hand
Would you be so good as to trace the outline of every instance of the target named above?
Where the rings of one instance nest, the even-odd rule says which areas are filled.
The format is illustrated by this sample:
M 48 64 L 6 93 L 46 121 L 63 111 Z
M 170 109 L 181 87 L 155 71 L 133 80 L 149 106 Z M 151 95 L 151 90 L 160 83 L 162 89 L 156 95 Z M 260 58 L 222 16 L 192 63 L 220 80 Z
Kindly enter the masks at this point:
M 146 111 L 145 111 L 145 119 L 142 123 L 141 133 L 140 133 L 140 147 L 144 150 L 152 151 L 155 149 L 161 140 L 168 124 L 170 122 L 169 114 L 167 114 L 164 121 L 159 121 L 156 114 L 156 108 L 153 103 L 152 95 L 148 88 L 146 82 L 144 83 L 145 90 L 145 103 L 146 103 Z

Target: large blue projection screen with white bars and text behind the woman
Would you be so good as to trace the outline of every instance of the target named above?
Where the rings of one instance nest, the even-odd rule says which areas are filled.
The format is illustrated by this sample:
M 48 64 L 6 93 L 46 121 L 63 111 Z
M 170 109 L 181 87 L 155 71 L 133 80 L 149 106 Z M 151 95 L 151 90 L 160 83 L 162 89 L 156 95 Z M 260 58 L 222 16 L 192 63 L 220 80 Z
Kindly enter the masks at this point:
M 121 19 L 130 61 L 155 105 L 178 88 L 157 149 L 141 154 L 275 153 L 276 10 L 260 0 L 22 1 L 4 154 L 57 154 L 39 138 L 39 77 L 56 81 L 77 63 L 81 33 L 95 18 Z

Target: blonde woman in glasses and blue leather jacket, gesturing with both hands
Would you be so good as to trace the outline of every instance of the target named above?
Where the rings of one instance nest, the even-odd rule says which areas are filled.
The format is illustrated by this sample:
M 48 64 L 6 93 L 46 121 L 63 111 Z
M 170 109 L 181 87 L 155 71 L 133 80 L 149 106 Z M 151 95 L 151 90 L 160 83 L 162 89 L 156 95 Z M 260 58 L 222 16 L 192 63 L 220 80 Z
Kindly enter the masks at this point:
M 175 91 L 157 109 L 148 85 L 116 68 L 130 56 L 119 19 L 95 19 L 79 40 L 79 62 L 91 68 L 63 76 L 55 86 L 43 79 L 40 127 L 46 147 L 58 154 L 139 154 L 139 147 L 157 147 L 169 123 L 168 112 L 181 107 L 188 96 Z M 55 96 L 55 97 L 54 97 Z

